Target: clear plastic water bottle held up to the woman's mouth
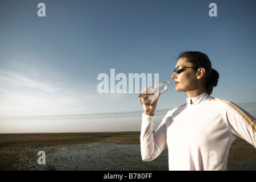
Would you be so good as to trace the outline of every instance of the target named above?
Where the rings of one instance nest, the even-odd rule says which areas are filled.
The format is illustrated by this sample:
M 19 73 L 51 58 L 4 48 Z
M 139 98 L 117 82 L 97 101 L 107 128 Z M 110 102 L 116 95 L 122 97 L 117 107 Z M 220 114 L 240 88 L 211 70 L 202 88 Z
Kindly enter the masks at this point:
M 157 99 L 158 97 L 154 94 L 155 89 L 158 89 L 160 93 L 164 93 L 167 91 L 168 86 L 171 85 L 170 81 L 161 81 L 159 82 L 157 88 L 151 87 L 151 88 L 147 88 L 147 91 L 143 91 L 141 94 L 138 95 L 139 101 L 141 101 L 141 104 L 146 104 L 147 102 L 149 102 L 150 100 L 153 99 Z M 157 92 L 157 90 L 156 90 Z M 144 98 L 143 95 L 147 94 L 147 97 Z

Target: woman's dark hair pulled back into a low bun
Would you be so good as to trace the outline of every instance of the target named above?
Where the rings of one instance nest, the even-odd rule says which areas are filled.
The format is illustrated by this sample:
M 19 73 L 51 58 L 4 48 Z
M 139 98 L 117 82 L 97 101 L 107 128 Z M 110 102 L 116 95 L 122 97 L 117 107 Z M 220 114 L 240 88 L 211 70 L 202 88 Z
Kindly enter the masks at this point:
M 213 92 L 213 87 L 218 84 L 219 73 L 211 68 L 209 57 L 205 53 L 198 51 L 182 52 L 179 55 L 179 58 L 181 57 L 185 57 L 195 68 L 205 68 L 207 75 L 205 88 L 206 92 L 210 95 Z

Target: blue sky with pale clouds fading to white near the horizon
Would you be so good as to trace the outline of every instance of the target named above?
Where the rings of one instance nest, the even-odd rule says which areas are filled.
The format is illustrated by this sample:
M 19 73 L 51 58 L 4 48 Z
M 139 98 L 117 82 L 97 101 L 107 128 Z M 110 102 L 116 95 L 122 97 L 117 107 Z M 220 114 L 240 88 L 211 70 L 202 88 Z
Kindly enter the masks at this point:
M 37 15 L 41 2 L 45 17 Z M 212 2 L 217 17 L 209 16 Z M 243 106 L 255 117 L 255 5 L 249 0 L 1 0 L 0 133 L 139 131 L 143 109 L 137 93 L 99 94 L 97 76 L 115 69 L 116 75 L 158 73 L 159 81 L 173 82 L 183 51 L 206 53 L 220 75 L 212 96 L 254 102 Z M 186 94 L 171 85 L 157 109 L 185 102 Z M 125 117 L 86 115 L 94 113 Z M 163 113 L 158 117 L 155 127 Z

